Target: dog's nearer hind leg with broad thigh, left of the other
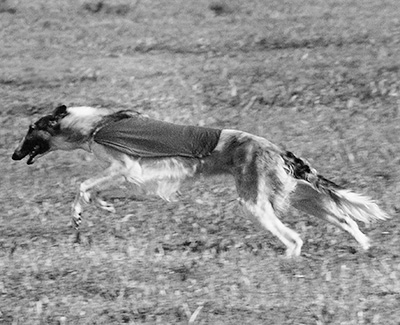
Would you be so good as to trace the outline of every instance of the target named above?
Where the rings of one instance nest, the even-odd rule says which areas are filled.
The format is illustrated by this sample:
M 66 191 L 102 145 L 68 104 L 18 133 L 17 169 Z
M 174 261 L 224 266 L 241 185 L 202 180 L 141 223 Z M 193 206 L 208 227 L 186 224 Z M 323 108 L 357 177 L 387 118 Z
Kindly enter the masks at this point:
M 277 213 L 285 211 L 295 182 L 286 174 L 282 161 L 262 143 L 241 145 L 234 155 L 233 175 L 244 210 L 278 237 L 286 246 L 286 256 L 299 256 L 303 241 L 285 226 Z

